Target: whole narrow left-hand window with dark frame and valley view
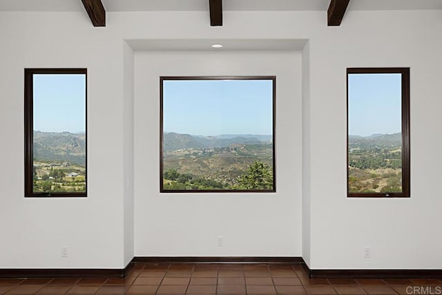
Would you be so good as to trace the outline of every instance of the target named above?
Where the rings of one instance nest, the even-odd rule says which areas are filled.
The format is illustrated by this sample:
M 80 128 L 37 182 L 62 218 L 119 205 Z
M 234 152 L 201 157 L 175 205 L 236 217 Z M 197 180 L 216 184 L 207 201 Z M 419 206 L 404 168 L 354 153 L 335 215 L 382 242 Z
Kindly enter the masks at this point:
M 86 197 L 86 72 L 25 69 L 26 197 Z

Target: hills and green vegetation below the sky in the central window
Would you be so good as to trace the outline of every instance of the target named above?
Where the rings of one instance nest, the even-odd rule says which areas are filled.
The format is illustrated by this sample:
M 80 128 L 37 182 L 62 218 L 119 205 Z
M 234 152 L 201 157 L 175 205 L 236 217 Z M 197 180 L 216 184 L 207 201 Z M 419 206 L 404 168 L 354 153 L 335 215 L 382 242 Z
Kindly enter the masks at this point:
M 163 188 L 273 189 L 271 138 L 269 135 L 201 137 L 165 133 Z M 253 166 L 259 171 L 251 171 Z M 255 186 L 251 185 L 252 174 L 256 175 Z M 249 182 L 244 175 L 249 175 Z

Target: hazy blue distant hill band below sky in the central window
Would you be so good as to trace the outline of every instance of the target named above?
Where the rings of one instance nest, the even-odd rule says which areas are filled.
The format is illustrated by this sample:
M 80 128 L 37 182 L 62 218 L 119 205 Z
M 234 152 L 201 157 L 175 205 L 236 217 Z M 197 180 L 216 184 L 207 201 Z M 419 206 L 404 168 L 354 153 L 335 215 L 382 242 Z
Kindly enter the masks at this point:
M 231 144 L 260 144 L 269 142 L 271 135 L 217 135 L 201 136 L 181 133 L 164 133 L 164 151 L 179 149 L 213 149 Z

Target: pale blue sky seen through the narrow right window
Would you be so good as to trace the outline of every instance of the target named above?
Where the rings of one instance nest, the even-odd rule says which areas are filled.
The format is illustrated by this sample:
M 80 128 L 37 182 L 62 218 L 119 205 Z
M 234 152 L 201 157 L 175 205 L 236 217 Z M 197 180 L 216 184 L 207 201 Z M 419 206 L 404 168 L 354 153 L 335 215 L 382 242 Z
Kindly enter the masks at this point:
M 401 132 L 401 74 L 349 74 L 349 135 Z

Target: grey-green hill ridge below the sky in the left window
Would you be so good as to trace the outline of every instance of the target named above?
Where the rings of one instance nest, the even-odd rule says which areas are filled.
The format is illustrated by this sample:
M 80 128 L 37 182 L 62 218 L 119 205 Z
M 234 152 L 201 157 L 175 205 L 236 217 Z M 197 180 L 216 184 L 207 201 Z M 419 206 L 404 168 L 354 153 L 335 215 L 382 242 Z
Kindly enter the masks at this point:
M 34 131 L 34 160 L 86 164 L 86 134 Z

